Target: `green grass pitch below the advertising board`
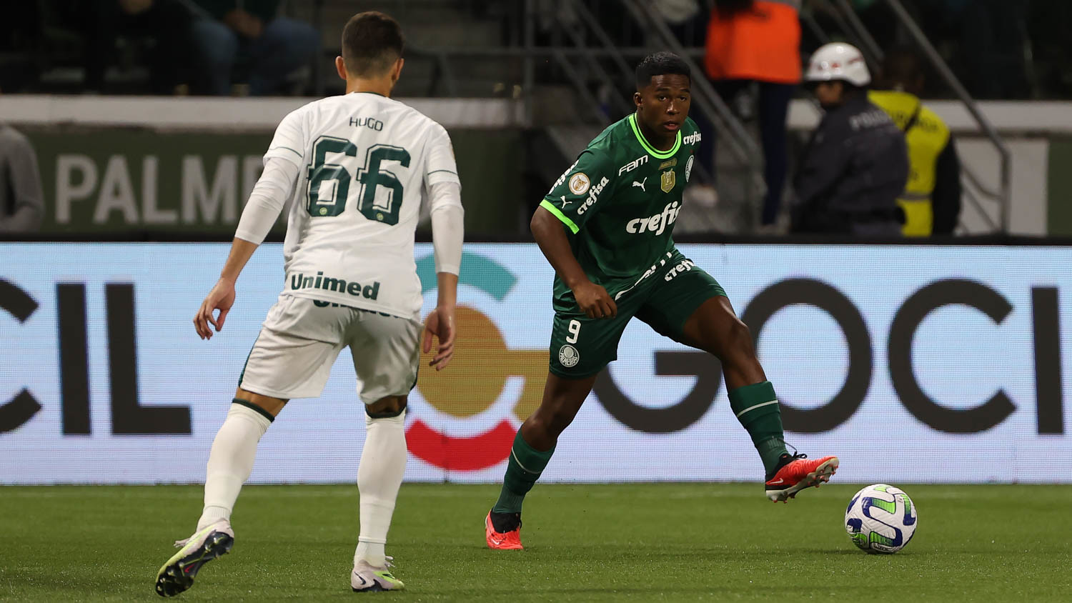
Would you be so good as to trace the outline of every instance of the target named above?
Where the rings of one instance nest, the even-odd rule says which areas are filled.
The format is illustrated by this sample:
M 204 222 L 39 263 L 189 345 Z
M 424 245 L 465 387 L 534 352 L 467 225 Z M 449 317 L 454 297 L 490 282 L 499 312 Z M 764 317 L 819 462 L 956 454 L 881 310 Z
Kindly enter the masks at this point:
M 836 479 L 836 478 L 835 478 Z M 866 555 L 859 485 L 788 504 L 759 484 L 538 485 L 526 551 L 483 545 L 493 486 L 405 484 L 387 552 L 408 590 L 355 594 L 356 486 L 247 486 L 235 548 L 177 601 L 1069 601 L 1072 486 L 912 485 L 919 530 Z M 0 487 L 0 600 L 155 601 L 199 486 Z

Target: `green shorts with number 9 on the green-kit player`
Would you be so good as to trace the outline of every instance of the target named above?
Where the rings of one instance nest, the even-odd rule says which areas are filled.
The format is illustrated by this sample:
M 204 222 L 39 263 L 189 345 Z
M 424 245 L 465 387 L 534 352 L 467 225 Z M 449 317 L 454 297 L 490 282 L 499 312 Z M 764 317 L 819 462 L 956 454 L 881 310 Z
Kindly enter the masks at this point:
M 635 285 L 611 292 L 614 318 L 555 312 L 551 328 L 551 372 L 567 379 L 590 377 L 617 360 L 617 342 L 634 316 L 656 333 L 682 341 L 682 329 L 700 304 L 726 297 L 723 286 L 681 252 L 667 253 Z

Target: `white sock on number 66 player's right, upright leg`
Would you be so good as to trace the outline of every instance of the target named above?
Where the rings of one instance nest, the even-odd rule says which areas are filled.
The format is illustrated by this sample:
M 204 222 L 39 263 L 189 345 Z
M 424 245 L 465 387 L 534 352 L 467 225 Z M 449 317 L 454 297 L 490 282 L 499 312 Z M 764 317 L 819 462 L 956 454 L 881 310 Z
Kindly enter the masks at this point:
M 405 411 L 389 419 L 372 419 L 366 414 L 364 425 L 364 448 L 357 468 L 361 534 L 354 552 L 354 564 L 364 561 L 383 568 L 387 562 L 384 558 L 387 530 L 405 473 Z

